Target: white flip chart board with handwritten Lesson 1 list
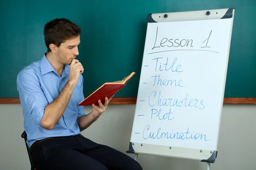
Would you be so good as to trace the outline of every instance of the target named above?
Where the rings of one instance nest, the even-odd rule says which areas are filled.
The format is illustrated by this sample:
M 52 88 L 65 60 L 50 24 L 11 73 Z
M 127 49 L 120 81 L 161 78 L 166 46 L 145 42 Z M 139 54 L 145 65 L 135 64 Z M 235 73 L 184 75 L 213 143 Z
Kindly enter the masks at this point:
M 148 17 L 130 152 L 215 161 L 231 9 Z

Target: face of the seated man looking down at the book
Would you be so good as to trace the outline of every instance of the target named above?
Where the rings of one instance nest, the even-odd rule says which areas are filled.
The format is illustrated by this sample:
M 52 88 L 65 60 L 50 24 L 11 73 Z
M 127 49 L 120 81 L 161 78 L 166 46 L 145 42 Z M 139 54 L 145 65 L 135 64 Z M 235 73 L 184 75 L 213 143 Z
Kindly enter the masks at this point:
M 79 55 L 79 43 L 80 36 L 61 43 L 57 51 L 58 62 L 62 64 L 70 64 L 72 60 L 75 59 L 77 55 Z

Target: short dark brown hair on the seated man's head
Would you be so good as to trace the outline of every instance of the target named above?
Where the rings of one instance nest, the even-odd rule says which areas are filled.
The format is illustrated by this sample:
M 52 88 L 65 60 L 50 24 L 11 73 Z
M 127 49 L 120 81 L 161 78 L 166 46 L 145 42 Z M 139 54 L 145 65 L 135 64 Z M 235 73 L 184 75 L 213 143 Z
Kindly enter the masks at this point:
M 70 38 L 78 37 L 81 34 L 81 28 L 66 18 L 57 18 L 47 22 L 44 26 L 44 41 L 47 46 L 47 52 L 51 49 L 49 45 L 55 44 L 57 47 Z

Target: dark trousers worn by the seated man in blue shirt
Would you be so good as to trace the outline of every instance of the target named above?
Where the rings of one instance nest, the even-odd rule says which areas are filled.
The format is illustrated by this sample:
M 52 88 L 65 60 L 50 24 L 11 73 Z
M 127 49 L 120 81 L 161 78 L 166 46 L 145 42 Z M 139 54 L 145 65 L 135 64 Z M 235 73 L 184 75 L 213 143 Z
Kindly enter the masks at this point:
M 44 140 L 31 156 L 36 170 L 142 170 L 130 156 L 79 135 Z

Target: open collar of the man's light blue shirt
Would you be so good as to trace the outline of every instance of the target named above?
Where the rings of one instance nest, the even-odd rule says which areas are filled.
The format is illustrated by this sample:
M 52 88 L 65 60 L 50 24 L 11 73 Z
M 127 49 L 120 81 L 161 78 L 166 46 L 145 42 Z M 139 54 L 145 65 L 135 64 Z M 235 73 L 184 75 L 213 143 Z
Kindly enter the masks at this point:
M 46 54 L 44 54 L 44 56 L 42 57 L 41 61 L 40 61 L 40 68 L 41 68 L 41 76 L 43 76 L 44 74 L 47 74 L 51 71 L 55 72 L 54 68 L 52 67 L 51 63 L 49 62 L 49 60 L 46 58 Z M 62 73 L 62 77 L 67 76 L 69 73 L 69 66 L 70 65 L 64 65 L 64 70 Z M 57 74 L 57 73 L 56 73 Z

